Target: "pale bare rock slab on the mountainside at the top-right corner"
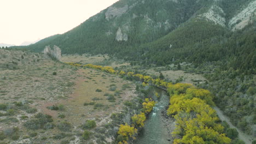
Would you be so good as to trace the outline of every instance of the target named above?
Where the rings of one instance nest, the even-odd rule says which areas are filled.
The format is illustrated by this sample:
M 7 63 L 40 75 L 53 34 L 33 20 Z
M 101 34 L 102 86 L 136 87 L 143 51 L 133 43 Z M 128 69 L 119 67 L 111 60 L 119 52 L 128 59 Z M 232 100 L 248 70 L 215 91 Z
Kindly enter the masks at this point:
M 234 16 L 230 21 L 229 21 L 229 28 L 232 29 L 232 31 L 236 31 L 238 29 L 242 29 L 245 26 L 247 26 L 252 19 L 255 19 L 256 15 L 256 1 L 253 1 L 248 4 L 248 6 L 243 9 L 239 14 Z

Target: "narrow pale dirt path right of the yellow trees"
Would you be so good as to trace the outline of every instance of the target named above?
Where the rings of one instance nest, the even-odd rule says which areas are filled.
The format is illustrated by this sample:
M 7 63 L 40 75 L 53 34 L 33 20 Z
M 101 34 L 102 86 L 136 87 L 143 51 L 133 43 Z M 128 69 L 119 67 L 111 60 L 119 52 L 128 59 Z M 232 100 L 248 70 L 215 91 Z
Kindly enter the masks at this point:
M 238 133 L 239 133 L 238 139 L 243 140 L 246 144 L 251 144 L 252 143 L 251 140 L 253 138 L 251 136 L 243 133 L 241 130 L 237 129 L 234 125 L 232 125 L 232 123 L 229 121 L 229 118 L 223 114 L 222 110 L 220 110 L 218 107 L 214 107 L 214 110 L 216 110 L 219 118 L 222 121 L 226 121 L 229 124 L 230 128 L 235 128 L 238 131 Z

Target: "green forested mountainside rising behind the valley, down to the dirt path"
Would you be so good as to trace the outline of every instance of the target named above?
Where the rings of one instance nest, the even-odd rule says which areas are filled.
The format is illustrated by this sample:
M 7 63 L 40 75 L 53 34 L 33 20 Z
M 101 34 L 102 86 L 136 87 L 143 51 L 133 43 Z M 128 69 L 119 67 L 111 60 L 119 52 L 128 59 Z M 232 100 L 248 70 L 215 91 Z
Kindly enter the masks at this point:
M 255 0 L 120 0 L 67 33 L 23 48 L 41 52 L 108 53 L 131 65 L 204 74 L 216 104 L 253 134 L 256 68 Z M 255 134 L 255 133 L 254 133 Z

